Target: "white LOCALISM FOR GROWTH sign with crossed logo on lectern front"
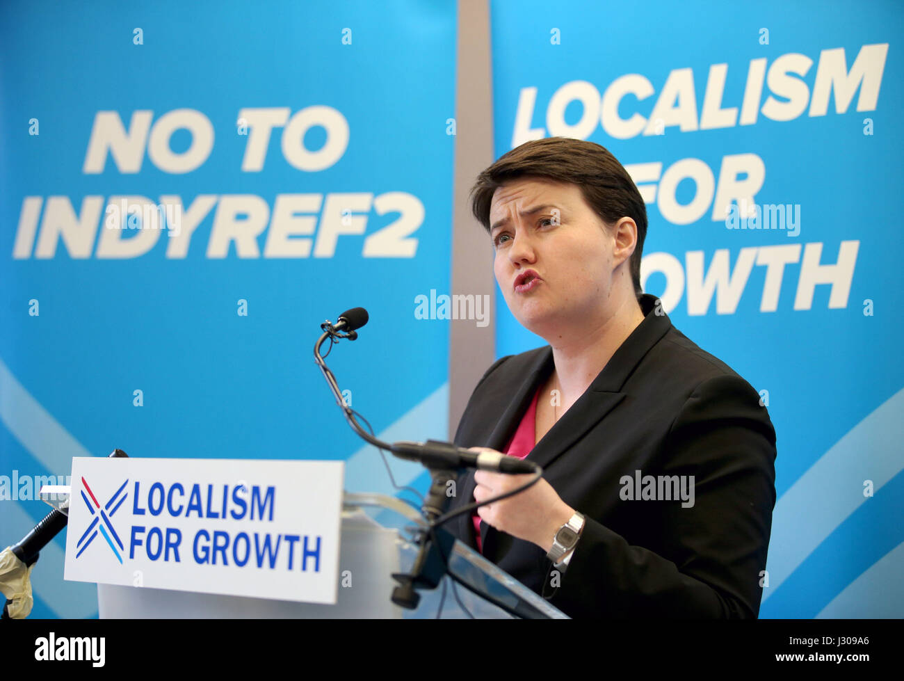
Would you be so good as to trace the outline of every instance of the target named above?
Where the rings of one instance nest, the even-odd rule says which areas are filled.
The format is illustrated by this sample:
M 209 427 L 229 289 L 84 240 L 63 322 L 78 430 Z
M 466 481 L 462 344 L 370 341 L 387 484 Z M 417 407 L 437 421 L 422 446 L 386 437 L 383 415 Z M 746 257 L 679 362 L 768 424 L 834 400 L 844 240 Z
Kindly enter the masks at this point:
M 64 578 L 336 602 L 342 461 L 72 459 Z

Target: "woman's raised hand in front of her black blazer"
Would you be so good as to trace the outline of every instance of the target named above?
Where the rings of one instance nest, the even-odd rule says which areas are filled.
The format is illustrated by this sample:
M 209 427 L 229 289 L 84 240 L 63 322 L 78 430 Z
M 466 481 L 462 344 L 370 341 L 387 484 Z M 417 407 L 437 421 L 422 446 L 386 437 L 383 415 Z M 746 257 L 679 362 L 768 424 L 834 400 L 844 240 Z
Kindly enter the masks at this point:
M 471 451 L 494 451 L 486 447 L 472 447 Z M 479 503 L 498 497 L 532 478 L 532 475 L 507 475 L 489 470 L 477 470 L 474 498 Z M 561 500 L 556 490 L 543 478 L 522 493 L 479 506 L 477 515 L 497 530 L 527 542 L 537 544 L 549 553 L 552 539 L 562 525 L 574 515 L 574 509 Z

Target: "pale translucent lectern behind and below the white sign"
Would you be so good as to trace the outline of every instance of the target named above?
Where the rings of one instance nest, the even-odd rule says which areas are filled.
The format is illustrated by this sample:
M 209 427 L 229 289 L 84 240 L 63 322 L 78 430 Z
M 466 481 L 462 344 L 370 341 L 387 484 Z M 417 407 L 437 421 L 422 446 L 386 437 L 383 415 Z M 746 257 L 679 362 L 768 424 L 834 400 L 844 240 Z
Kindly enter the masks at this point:
M 68 490 L 67 490 L 68 491 Z M 60 487 L 53 487 L 57 499 Z M 45 497 L 42 490 L 42 497 Z M 48 501 L 48 503 L 51 503 Z M 65 501 L 52 506 L 68 507 Z M 418 606 L 391 601 L 392 575 L 407 572 L 418 553 L 413 537 L 426 527 L 419 513 L 395 497 L 344 494 L 335 605 L 224 596 L 194 591 L 98 584 L 101 619 L 567 619 L 534 591 L 471 548 L 445 535 L 448 572 L 457 578 L 419 591 Z M 441 528 L 438 534 L 444 534 Z M 444 596 L 445 591 L 445 596 Z

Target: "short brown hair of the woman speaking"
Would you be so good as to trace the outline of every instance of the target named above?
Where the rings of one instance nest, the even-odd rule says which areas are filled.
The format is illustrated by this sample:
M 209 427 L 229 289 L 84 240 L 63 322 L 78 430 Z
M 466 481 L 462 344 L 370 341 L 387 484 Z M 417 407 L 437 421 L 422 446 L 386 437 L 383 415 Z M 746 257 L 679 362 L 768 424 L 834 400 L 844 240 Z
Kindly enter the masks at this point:
M 640 259 L 646 236 L 644 199 L 625 166 L 606 147 L 569 137 L 545 137 L 525 142 L 477 175 L 471 188 L 471 210 L 490 232 L 490 204 L 493 194 L 504 184 L 522 177 L 540 177 L 554 182 L 576 184 L 584 201 L 605 222 L 629 217 L 637 225 L 637 246 L 631 255 L 631 279 L 637 298 L 640 288 Z

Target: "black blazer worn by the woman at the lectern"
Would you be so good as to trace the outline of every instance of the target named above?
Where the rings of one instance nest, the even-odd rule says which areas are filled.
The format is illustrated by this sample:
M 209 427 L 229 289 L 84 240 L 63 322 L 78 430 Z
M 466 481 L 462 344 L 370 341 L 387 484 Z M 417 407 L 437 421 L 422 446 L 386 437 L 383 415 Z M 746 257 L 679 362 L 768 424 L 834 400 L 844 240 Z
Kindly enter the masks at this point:
M 776 502 L 776 433 L 749 383 L 661 307 L 657 314 L 656 302 L 641 298 L 644 321 L 527 457 L 587 517 L 558 587 L 539 546 L 486 523 L 483 553 L 575 618 L 755 618 Z M 552 369 L 549 345 L 493 364 L 456 444 L 504 449 Z M 623 500 L 622 477 L 637 470 L 693 476 L 693 506 Z M 474 487 L 473 473 L 460 477 L 449 508 L 473 502 Z M 476 548 L 470 515 L 448 529 Z

